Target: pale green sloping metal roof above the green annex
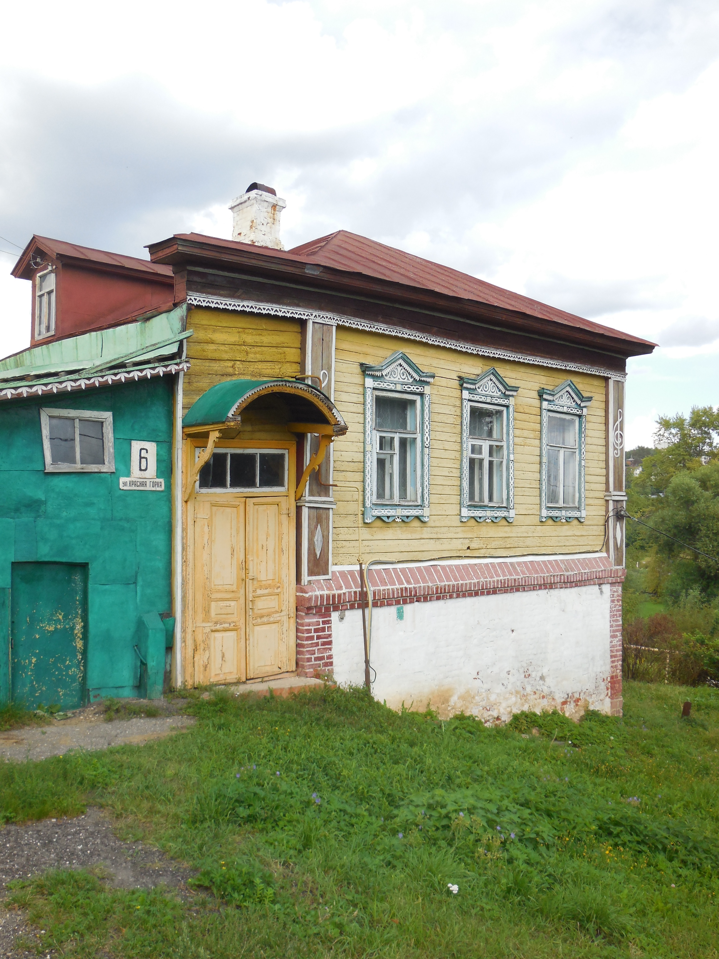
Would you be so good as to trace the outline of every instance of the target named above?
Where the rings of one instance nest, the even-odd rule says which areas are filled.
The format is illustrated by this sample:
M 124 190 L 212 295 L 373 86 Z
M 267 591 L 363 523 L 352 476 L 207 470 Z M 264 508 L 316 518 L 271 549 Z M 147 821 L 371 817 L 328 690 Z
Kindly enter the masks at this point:
M 182 303 L 150 319 L 32 346 L 0 360 L 0 386 L 15 386 L 15 381 L 18 385 L 49 383 L 66 379 L 68 374 L 90 376 L 124 364 L 136 369 L 172 357 L 180 341 L 192 336 L 192 330 L 183 331 L 186 316 L 187 304 Z

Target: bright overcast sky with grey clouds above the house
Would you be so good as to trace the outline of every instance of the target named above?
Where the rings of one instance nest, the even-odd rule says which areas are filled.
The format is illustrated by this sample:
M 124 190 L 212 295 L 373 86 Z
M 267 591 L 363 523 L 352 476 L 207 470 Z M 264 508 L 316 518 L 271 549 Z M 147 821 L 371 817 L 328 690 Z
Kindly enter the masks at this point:
M 260 180 L 287 247 L 353 230 L 659 342 L 630 363 L 629 446 L 719 404 L 716 0 L 69 0 L 30 19 L 3 4 L 0 355 L 30 337 L 13 244 L 229 237 Z

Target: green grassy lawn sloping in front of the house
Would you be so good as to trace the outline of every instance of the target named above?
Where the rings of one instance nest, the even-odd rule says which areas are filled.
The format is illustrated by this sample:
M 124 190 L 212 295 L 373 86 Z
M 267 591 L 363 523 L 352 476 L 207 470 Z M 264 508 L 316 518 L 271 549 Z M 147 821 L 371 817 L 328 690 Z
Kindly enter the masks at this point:
M 523 713 L 494 730 L 359 690 L 189 711 L 181 736 L 0 767 L 6 821 L 101 804 L 206 893 L 47 874 L 12 893 L 45 930 L 38 949 L 719 957 L 719 690 L 629 684 L 623 719 Z

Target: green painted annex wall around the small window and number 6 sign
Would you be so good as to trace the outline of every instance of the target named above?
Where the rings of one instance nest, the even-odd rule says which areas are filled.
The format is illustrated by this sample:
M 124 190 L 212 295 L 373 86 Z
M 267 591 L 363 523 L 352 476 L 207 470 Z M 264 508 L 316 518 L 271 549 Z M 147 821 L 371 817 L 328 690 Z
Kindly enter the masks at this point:
M 172 611 L 174 377 L 0 401 L 0 702 L 10 695 L 12 562 L 87 563 L 87 689 L 137 695 L 141 617 Z M 114 473 L 45 473 L 40 407 L 112 412 Z M 121 490 L 130 440 L 157 443 L 164 492 Z

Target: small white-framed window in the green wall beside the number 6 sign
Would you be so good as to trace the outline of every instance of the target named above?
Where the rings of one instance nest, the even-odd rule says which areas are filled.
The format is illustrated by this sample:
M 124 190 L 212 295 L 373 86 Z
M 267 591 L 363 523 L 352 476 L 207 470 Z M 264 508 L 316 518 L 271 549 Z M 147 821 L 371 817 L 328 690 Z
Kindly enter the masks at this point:
M 40 409 L 46 473 L 114 473 L 112 413 Z

